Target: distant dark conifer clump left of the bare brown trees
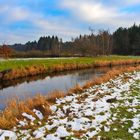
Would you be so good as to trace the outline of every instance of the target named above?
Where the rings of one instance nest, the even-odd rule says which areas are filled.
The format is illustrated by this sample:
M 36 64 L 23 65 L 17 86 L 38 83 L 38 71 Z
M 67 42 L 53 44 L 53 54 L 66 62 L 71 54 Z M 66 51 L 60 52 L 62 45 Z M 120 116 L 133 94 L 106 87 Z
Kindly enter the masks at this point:
M 14 44 L 11 45 L 10 48 L 20 51 L 20 52 L 28 52 L 28 51 L 47 51 L 48 54 L 52 56 L 57 56 L 60 52 L 60 44 L 62 40 L 58 39 L 57 36 L 45 36 L 40 37 L 38 41 L 28 41 L 25 44 Z

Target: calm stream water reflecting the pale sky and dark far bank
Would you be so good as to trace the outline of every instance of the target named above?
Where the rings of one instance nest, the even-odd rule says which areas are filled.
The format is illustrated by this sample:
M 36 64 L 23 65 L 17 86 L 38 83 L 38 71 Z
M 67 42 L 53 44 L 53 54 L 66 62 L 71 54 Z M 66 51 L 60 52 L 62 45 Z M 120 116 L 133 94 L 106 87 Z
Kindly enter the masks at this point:
M 86 69 L 63 72 L 50 76 L 39 75 L 1 82 L 0 109 L 3 109 L 6 102 L 11 98 L 18 97 L 20 99 L 25 99 L 32 97 L 37 93 L 45 95 L 55 89 L 66 91 L 76 83 L 83 85 L 87 80 L 101 76 L 108 70 L 110 70 L 110 68 Z

